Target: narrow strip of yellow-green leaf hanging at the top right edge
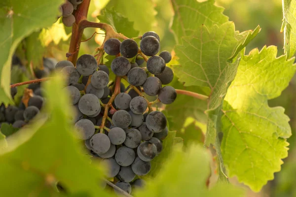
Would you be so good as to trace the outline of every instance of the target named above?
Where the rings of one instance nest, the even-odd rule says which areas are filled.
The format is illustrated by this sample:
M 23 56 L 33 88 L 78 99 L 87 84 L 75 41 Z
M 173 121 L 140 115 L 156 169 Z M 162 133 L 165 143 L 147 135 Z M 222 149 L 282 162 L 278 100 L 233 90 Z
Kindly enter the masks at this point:
M 281 32 L 284 31 L 284 48 L 287 59 L 291 58 L 296 51 L 296 1 L 283 0 L 283 24 Z

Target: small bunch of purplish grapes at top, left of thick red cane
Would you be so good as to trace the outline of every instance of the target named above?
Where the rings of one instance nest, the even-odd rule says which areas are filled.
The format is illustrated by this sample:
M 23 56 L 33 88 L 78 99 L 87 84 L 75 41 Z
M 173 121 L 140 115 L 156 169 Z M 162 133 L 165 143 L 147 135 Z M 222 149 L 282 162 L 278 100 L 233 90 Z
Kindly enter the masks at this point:
M 64 4 L 59 7 L 59 11 L 62 16 L 62 22 L 66 27 L 72 27 L 75 23 L 75 17 L 73 12 L 77 9 L 77 6 L 82 3 L 83 0 L 67 0 Z

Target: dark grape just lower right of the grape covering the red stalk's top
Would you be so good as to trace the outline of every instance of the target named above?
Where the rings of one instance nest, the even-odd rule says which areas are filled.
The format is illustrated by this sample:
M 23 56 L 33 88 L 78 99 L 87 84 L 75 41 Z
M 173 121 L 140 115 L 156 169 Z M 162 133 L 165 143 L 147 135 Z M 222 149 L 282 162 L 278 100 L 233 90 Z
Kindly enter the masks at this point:
M 143 68 L 134 67 L 127 73 L 127 79 L 133 86 L 142 86 L 147 79 L 147 74 Z

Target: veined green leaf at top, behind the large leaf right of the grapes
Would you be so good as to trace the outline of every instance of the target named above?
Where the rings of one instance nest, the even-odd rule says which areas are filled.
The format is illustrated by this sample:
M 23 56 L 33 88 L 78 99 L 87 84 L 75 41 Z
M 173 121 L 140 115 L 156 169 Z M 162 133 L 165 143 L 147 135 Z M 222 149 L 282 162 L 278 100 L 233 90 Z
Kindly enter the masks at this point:
M 180 44 L 183 36 L 192 35 L 196 30 L 200 30 L 202 25 L 212 27 L 228 21 L 228 17 L 222 14 L 224 8 L 214 3 L 214 0 L 172 0 L 175 11 L 172 30 Z

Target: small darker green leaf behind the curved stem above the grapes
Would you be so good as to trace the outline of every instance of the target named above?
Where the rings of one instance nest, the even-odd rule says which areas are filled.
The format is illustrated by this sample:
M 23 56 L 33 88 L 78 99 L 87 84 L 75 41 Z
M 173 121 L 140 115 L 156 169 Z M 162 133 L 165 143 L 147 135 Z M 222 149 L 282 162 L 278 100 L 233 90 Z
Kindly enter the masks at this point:
M 111 25 L 117 33 L 122 33 L 127 37 L 136 37 L 139 35 L 139 31 L 133 28 L 134 22 L 129 21 L 128 18 L 115 11 L 114 8 L 103 9 L 102 15 L 99 15 L 98 19 L 101 23 Z

